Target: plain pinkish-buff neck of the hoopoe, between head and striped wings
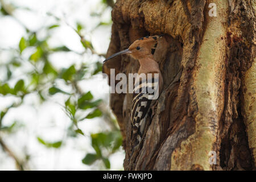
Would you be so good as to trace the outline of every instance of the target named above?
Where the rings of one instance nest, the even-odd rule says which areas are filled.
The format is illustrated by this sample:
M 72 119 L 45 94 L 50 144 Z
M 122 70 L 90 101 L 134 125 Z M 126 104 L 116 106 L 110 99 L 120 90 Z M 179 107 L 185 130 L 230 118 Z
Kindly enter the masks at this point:
M 139 59 L 139 64 L 141 64 L 141 67 L 139 68 L 138 72 L 139 74 L 160 73 L 159 65 L 152 57 Z

